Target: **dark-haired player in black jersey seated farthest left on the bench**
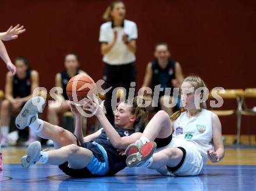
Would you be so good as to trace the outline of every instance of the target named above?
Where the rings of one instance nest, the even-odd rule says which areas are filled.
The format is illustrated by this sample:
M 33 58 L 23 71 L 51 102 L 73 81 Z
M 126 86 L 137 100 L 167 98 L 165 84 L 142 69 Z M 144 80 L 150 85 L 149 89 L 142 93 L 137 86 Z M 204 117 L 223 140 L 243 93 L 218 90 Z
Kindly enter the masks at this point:
M 19 113 L 24 103 L 32 98 L 33 91 L 38 87 L 38 73 L 31 70 L 29 62 L 25 57 L 16 57 L 15 66 L 17 73 L 12 78 L 9 71 L 6 74 L 5 82 L 5 100 L 1 104 L 1 133 L 2 144 L 7 144 L 7 135 L 9 132 L 9 122 L 11 113 Z M 35 134 L 30 132 L 29 142 L 36 140 Z

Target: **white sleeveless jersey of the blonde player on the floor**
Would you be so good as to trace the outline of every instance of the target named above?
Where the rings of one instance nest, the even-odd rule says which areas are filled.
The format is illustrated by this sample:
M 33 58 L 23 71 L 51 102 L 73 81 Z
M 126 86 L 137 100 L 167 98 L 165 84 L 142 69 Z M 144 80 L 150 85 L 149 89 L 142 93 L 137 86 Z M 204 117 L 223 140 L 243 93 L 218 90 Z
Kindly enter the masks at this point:
M 172 147 L 200 152 L 204 163 L 207 162 L 207 150 L 212 150 L 212 112 L 202 109 L 193 117 L 187 117 L 187 111 L 180 114 L 174 122 Z

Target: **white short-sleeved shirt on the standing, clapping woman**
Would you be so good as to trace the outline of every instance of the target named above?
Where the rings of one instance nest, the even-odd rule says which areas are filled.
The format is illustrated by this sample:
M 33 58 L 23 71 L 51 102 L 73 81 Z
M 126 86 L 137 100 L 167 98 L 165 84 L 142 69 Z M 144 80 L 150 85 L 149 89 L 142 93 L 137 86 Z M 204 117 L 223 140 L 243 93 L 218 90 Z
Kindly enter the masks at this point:
M 121 65 L 135 62 L 135 54 L 127 48 L 127 45 L 122 41 L 123 34 L 127 35 L 127 41 L 138 38 L 136 23 L 130 20 L 124 20 L 123 26 L 115 27 L 113 22 L 108 21 L 101 25 L 99 31 L 99 42 L 112 43 L 114 30 L 118 31 L 118 38 L 112 49 L 103 57 L 103 62 L 111 65 Z

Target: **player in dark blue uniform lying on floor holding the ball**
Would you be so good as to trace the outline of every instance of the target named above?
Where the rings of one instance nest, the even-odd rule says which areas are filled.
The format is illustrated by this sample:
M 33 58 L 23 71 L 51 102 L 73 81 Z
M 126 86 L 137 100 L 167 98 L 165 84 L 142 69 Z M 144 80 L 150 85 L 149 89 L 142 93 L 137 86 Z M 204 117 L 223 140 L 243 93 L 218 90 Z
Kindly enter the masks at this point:
M 138 122 L 145 121 L 148 114 L 144 107 L 138 107 L 137 98 L 134 98 L 132 106 L 127 106 L 127 101 L 121 102 L 115 112 L 114 128 L 98 103 L 90 100 L 84 110 L 92 113 L 96 111 L 95 116 L 103 128 L 84 138 L 81 114 L 73 105 L 72 111 L 76 116 L 74 135 L 38 119 L 38 109 L 33 103 L 42 104 L 44 99 L 35 97 L 29 100 L 16 118 L 16 126 L 20 129 L 29 126 L 41 138 L 53 140 L 56 150 L 41 152 L 40 142 L 31 143 L 27 156 L 22 157 L 23 167 L 28 168 L 35 163 L 59 165 L 65 174 L 80 178 L 114 175 L 125 168 L 126 157 L 120 156 L 117 149 L 126 149 L 140 138 L 141 133 L 134 133 L 134 127 Z

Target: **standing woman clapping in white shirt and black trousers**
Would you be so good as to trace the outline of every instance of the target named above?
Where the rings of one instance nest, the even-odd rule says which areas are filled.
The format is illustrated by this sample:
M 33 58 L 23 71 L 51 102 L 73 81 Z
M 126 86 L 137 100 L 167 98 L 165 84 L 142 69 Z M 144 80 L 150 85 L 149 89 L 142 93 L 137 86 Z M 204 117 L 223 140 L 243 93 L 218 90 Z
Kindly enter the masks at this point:
M 103 23 L 99 32 L 101 53 L 103 55 L 105 89 L 112 87 L 106 93 L 106 116 L 113 124 L 114 116 L 111 106 L 113 89 L 122 86 L 126 89 L 126 98 L 130 83 L 136 81 L 135 53 L 138 37 L 136 23 L 125 19 L 126 9 L 122 1 L 112 2 L 106 8 Z M 115 106 L 113 106 L 115 108 Z

